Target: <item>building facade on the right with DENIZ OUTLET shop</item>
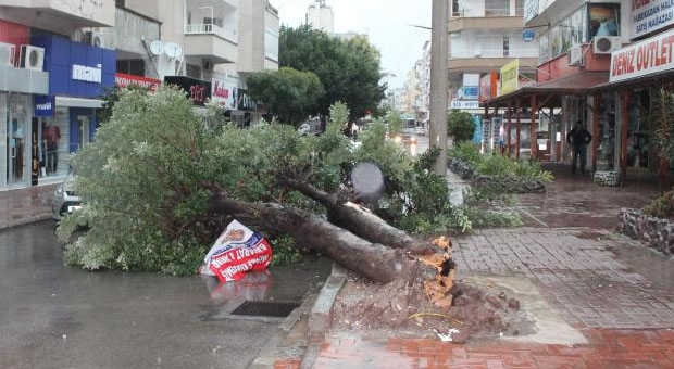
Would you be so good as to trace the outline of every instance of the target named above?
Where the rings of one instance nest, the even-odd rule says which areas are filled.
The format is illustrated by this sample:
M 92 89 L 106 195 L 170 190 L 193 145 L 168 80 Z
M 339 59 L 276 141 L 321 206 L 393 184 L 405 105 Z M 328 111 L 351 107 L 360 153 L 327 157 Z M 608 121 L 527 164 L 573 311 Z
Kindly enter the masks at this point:
M 541 128 L 541 115 L 556 115 L 542 127 L 552 161 L 571 160 L 565 136 L 579 120 L 594 136 L 592 173 L 614 171 L 622 179 L 644 170 L 666 176 L 669 166 L 652 142 L 658 93 L 672 87 L 674 76 L 667 51 L 671 4 L 527 0 L 524 8 L 525 29 L 540 50 L 537 82 L 489 100 L 488 109 L 515 107 L 516 120 L 527 117 L 533 130 Z M 540 147 L 532 141 L 531 150 Z

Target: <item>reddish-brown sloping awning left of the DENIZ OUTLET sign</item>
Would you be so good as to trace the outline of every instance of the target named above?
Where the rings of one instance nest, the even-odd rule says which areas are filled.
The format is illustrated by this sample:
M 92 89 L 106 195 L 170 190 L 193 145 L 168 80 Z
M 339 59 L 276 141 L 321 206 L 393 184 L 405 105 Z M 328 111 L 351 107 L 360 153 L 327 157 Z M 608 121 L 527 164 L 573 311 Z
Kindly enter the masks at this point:
M 516 91 L 502 94 L 483 102 L 485 106 L 503 105 L 508 101 L 515 98 L 524 98 L 531 96 L 565 96 L 565 94 L 585 94 L 591 88 L 607 84 L 609 81 L 609 72 L 583 72 L 564 78 L 538 82 L 536 85 L 525 86 Z

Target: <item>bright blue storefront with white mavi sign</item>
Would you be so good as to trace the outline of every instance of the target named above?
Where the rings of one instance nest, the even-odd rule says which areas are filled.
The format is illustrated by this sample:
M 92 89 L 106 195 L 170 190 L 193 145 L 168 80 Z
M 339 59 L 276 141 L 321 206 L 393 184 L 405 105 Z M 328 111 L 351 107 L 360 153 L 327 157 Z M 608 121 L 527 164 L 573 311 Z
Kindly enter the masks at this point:
M 45 49 L 49 93 L 35 98 L 39 178 L 62 180 L 73 168 L 71 157 L 93 140 L 101 98 L 114 88 L 116 56 L 70 39 L 41 35 L 34 43 Z

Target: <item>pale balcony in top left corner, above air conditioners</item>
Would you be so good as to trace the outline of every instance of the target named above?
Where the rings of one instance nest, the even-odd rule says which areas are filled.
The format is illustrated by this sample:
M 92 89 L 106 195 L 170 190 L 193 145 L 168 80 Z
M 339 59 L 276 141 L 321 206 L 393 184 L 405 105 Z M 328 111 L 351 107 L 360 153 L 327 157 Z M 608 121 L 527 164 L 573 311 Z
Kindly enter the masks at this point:
M 0 0 L 5 20 L 42 29 L 114 27 L 115 2 L 82 0 Z

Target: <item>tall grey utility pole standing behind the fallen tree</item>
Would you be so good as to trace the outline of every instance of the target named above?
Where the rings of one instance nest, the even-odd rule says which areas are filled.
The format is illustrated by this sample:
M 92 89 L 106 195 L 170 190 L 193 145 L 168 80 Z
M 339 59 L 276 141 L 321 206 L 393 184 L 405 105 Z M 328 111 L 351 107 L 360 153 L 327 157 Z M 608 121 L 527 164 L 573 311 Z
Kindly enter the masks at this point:
M 447 22 L 448 0 L 433 1 L 430 30 L 430 132 L 429 147 L 438 147 L 440 155 L 434 171 L 447 176 L 447 59 L 449 52 Z

